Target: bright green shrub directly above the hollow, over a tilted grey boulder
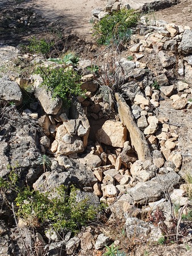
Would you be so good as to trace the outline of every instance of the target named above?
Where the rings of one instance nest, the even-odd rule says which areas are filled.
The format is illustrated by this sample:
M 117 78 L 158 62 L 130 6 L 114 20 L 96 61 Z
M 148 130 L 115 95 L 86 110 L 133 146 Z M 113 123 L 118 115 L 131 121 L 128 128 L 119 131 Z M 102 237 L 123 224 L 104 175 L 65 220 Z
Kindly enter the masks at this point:
M 80 76 L 73 69 L 39 67 L 37 73 L 43 78 L 42 85 L 52 92 L 52 97 L 62 99 L 65 107 L 70 106 L 72 96 L 84 96 Z

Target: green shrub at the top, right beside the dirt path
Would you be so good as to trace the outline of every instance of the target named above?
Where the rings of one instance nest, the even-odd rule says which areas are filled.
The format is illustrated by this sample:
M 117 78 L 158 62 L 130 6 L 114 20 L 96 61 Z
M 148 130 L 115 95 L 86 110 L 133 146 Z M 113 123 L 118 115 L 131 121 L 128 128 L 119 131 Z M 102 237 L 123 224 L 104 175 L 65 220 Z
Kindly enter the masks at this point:
M 134 10 L 114 11 L 93 25 L 93 35 L 99 45 L 125 42 L 130 39 L 130 28 L 136 26 L 137 19 L 138 15 Z

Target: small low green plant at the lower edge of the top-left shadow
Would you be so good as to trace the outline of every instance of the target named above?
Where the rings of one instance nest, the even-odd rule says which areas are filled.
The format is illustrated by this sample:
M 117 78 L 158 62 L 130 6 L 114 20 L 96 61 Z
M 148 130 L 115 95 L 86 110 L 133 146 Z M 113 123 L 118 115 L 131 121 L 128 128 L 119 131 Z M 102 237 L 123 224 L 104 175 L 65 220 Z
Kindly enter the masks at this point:
M 51 47 L 54 45 L 52 42 L 47 42 L 45 39 L 37 39 L 35 36 L 33 36 L 30 40 L 30 44 L 27 47 L 28 51 L 32 53 L 41 53 L 43 55 L 46 55 L 50 52 Z

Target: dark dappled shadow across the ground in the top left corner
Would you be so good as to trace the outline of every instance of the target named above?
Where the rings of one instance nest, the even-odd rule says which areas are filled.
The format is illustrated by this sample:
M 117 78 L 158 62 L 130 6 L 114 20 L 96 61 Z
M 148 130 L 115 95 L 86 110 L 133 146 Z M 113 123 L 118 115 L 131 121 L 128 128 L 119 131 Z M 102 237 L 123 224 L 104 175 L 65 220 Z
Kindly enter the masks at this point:
M 0 44 L 18 46 L 27 44 L 32 36 L 52 40 L 70 34 L 75 17 L 58 15 L 53 10 L 47 10 L 46 6 L 39 8 L 42 12 L 49 12 L 49 20 L 36 14 L 33 8 L 20 4 L 19 0 L 0 0 Z

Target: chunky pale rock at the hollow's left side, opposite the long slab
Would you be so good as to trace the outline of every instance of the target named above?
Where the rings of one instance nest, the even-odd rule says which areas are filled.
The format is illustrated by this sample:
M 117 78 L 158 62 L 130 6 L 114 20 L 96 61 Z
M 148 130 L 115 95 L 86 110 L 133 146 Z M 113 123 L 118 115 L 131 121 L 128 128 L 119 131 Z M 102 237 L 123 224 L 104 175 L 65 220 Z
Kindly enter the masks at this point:
M 55 139 L 58 142 L 57 155 L 69 155 L 84 151 L 84 143 L 81 138 L 77 135 L 69 135 L 65 125 L 60 125 L 57 128 Z

